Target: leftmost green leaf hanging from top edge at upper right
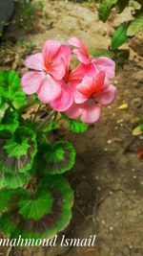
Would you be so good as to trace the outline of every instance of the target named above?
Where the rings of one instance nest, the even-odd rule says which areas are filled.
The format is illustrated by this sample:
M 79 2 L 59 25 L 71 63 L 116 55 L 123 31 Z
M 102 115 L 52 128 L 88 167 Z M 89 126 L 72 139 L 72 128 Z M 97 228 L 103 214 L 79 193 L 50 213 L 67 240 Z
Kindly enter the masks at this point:
M 99 18 L 106 22 L 110 13 L 112 6 L 117 2 L 117 0 L 102 0 L 99 5 L 98 15 Z

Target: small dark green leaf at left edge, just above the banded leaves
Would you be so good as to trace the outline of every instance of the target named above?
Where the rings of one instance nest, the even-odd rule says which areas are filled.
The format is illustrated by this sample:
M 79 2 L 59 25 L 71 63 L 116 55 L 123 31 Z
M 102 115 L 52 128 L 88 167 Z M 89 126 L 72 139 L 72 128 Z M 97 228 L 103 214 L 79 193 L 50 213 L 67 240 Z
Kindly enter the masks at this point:
M 13 132 L 16 128 L 18 128 L 18 126 L 18 113 L 16 111 L 11 111 L 9 107 L 1 121 L 0 130 L 8 129 Z

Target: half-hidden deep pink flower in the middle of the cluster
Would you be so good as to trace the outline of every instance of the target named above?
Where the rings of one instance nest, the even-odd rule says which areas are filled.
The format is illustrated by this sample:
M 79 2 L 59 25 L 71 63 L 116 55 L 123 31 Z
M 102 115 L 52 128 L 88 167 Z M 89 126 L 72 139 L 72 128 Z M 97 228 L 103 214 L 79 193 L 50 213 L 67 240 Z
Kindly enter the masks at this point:
M 71 62 L 71 49 L 67 45 L 61 46 L 61 56 L 64 59 L 65 64 L 65 76 L 63 80 L 60 82 L 62 93 L 51 102 L 51 107 L 57 111 L 65 111 L 73 104 L 73 92 L 78 83 L 80 83 L 83 79 L 81 74 L 76 71 L 76 68 L 69 71 L 70 62 Z M 80 77 L 80 78 L 79 78 Z

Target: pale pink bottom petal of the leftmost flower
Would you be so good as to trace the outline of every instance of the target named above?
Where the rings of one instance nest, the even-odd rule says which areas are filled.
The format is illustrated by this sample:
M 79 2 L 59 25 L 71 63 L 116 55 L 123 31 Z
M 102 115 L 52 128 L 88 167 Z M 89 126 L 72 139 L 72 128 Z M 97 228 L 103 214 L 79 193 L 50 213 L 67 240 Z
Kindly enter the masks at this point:
M 38 99 L 41 102 L 49 104 L 59 97 L 61 94 L 61 87 L 57 81 L 54 81 L 50 75 L 47 75 L 37 94 Z

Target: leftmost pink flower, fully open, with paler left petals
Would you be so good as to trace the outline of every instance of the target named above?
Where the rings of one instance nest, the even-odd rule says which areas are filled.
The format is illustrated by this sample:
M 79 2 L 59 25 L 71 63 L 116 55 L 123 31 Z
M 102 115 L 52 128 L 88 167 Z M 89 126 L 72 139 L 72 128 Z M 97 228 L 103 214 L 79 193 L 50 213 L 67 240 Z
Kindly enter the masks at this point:
M 37 93 L 43 103 L 51 103 L 61 94 L 60 81 L 65 74 L 61 58 L 61 45 L 55 40 L 47 40 L 42 53 L 26 59 L 26 66 L 32 71 L 22 77 L 22 88 L 26 94 Z

